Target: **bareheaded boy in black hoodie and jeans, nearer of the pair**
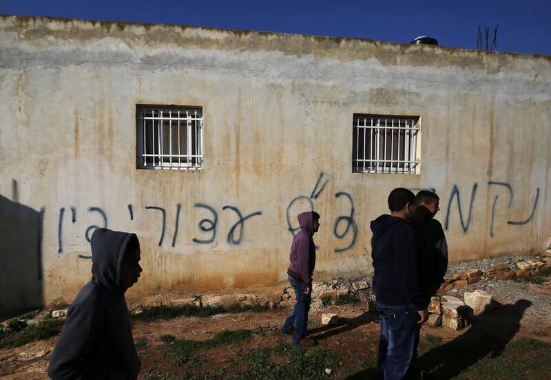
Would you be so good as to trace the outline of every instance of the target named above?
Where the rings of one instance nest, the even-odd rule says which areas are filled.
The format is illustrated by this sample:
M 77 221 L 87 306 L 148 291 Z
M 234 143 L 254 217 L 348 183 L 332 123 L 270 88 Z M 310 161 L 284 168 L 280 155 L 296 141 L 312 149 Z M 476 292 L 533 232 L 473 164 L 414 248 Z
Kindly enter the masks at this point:
M 415 357 L 417 324 L 428 318 L 419 287 L 419 248 L 408 219 L 415 195 L 396 188 L 388 196 L 391 215 L 371 222 L 373 292 L 380 313 L 377 380 L 401 380 Z

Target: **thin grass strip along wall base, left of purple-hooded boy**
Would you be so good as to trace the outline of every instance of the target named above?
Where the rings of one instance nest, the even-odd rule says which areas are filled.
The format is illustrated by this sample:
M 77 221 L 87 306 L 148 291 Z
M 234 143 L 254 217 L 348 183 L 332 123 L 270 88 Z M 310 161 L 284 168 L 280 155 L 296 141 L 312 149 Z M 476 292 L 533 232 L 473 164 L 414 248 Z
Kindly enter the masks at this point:
M 185 305 L 160 305 L 145 307 L 139 314 L 133 315 L 134 320 L 150 322 L 154 320 L 171 320 L 176 317 L 210 317 L 222 313 L 242 313 L 252 311 L 258 313 L 266 311 L 267 306 L 262 305 L 236 305 L 236 306 L 196 306 Z

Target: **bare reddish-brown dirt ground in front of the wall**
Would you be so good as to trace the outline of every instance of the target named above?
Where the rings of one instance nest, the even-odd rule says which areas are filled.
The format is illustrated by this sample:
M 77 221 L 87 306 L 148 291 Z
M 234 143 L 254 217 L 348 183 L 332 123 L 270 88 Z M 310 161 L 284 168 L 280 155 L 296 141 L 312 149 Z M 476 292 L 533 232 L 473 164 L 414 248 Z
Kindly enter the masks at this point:
M 254 288 L 242 291 L 258 295 L 273 293 L 274 289 Z M 503 281 L 493 287 L 492 294 L 496 301 L 495 309 L 491 313 L 470 317 L 468 326 L 462 331 L 423 326 L 419 367 L 432 369 L 431 379 L 486 379 L 465 377 L 466 375 L 461 374 L 470 367 L 477 366 L 477 363 L 485 358 L 499 357 L 510 342 L 522 340 L 551 344 L 551 316 L 545 313 L 551 305 L 550 282 L 531 284 Z M 163 297 L 171 296 L 174 295 Z M 143 301 L 132 300 L 138 303 Z M 202 341 L 221 331 L 253 331 L 253 335 L 242 342 L 222 344 L 198 351 L 197 355 L 204 360 L 198 361 L 194 367 L 196 374 L 207 374 L 213 368 L 230 371 L 232 368 L 229 368 L 227 363 L 231 357 L 244 357 L 250 350 L 275 346 L 278 342 L 290 342 L 290 337 L 279 331 L 287 313 L 289 309 L 273 309 L 257 313 L 249 311 L 211 317 L 136 321 L 133 328 L 134 339 L 147 342 L 146 348 L 138 350 L 143 362 L 140 379 L 164 379 L 159 374 L 167 372 L 167 368 L 178 374 L 178 368 L 175 368 L 162 349 L 164 343 L 159 339 L 161 335 L 170 334 L 180 339 Z M 340 324 L 331 328 L 322 326 L 322 313 L 337 313 Z M 358 303 L 325 306 L 323 309 L 312 310 L 310 315 L 309 336 L 317 339 L 319 344 L 314 348 L 307 348 L 306 352 L 322 347 L 340 354 L 339 365 L 331 369 L 331 375 L 326 376 L 332 379 L 371 379 L 379 339 L 378 314 L 367 311 L 365 303 Z M 0 379 L 48 379 L 45 371 L 55 342 L 56 337 L 52 337 L 18 348 L 0 348 Z M 519 347 L 515 355 L 526 354 L 522 359 L 525 363 L 538 360 L 530 356 L 530 344 Z M 276 358 L 275 361 L 277 360 Z M 523 370 L 521 378 L 551 379 L 550 372 L 541 370 L 548 368 L 545 366 L 551 361 L 551 353 L 547 353 L 543 360 L 547 364 L 543 367 L 534 366 L 535 369 L 528 366 L 528 369 Z M 496 377 L 498 378 L 509 377 Z

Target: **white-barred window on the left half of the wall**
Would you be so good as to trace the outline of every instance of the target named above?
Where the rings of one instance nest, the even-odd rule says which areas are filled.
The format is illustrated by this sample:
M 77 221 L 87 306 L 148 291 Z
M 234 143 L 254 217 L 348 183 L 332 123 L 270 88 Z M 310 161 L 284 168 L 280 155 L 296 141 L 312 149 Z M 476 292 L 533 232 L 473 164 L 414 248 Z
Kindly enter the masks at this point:
M 136 105 L 136 166 L 201 169 L 202 109 Z

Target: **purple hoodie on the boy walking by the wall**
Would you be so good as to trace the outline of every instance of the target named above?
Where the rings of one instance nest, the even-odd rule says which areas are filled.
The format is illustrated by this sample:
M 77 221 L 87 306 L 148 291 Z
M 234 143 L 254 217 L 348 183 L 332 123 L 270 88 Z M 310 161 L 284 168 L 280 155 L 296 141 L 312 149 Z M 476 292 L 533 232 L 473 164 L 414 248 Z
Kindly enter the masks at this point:
M 312 274 L 315 267 L 315 244 L 312 238 L 314 234 L 314 222 L 312 212 L 302 212 L 298 214 L 298 224 L 300 231 L 293 238 L 291 253 L 289 254 L 289 276 L 301 280 L 306 285 L 311 286 Z

